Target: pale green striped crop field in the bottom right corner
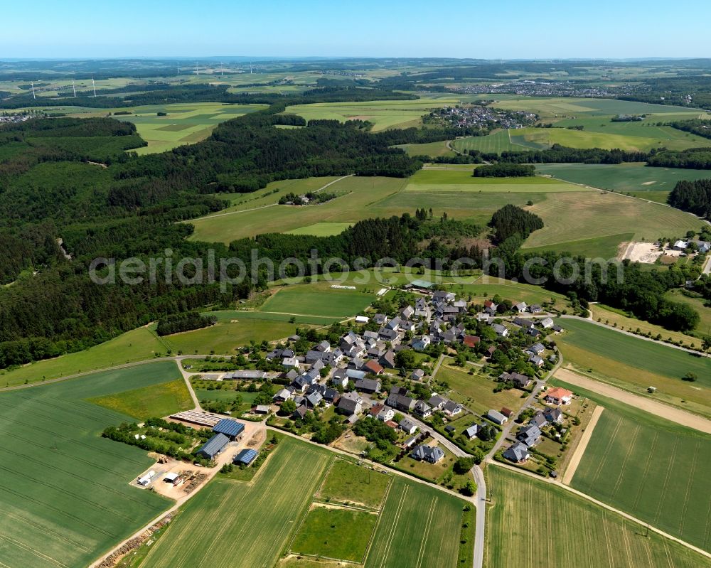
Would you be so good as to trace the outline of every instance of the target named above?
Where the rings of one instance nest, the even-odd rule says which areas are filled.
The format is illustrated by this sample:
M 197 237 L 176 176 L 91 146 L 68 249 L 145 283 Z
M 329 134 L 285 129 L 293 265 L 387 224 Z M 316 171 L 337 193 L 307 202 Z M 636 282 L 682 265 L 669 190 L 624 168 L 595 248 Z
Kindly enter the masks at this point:
M 493 498 L 486 515 L 487 566 L 711 565 L 707 558 L 656 533 L 645 537 L 645 527 L 565 489 L 496 465 L 486 471 Z

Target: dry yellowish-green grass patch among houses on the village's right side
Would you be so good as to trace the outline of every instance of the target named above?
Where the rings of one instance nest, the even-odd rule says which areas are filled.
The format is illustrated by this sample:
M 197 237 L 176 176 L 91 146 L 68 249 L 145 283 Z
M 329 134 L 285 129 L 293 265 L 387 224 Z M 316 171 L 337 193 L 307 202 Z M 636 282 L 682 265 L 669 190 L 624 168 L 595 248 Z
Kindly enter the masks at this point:
M 466 397 L 464 404 L 477 414 L 486 414 L 489 409 L 501 410 L 506 407 L 514 412 L 523 404 L 523 391 L 518 389 L 493 392 L 497 383 L 481 375 L 469 375 L 469 368 L 460 370 L 442 365 L 437 372 L 437 380 L 446 381 L 456 392 Z M 475 368 L 476 371 L 476 368 Z

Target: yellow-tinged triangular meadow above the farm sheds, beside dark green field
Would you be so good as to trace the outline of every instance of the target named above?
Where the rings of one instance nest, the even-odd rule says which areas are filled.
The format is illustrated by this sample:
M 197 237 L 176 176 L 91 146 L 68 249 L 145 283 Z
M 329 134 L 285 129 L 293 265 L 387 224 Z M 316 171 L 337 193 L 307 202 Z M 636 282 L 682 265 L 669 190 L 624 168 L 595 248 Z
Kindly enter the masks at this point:
M 170 382 L 127 390 L 116 395 L 96 397 L 89 399 L 89 402 L 138 420 L 156 416 L 164 417 L 180 410 L 189 410 L 195 406 L 193 399 L 177 368 L 175 375 L 178 378 Z

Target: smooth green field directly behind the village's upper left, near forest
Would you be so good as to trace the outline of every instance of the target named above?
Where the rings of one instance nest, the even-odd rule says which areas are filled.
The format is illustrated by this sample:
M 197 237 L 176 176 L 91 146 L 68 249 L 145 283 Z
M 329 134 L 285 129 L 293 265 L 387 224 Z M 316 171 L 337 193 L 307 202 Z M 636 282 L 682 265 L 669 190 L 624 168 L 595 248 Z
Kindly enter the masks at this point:
M 363 311 L 374 299 L 375 294 L 360 290 L 332 289 L 328 282 L 298 284 L 278 289 L 260 311 L 346 318 Z

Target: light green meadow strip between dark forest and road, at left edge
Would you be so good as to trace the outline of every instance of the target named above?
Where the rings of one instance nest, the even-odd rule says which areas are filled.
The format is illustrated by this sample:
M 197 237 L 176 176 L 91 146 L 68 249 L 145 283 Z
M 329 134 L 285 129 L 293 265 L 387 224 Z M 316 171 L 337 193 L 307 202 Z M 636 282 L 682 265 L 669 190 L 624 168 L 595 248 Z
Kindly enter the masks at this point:
M 137 328 L 95 347 L 0 371 L 0 387 L 40 382 L 165 355 L 166 346 L 148 328 Z

